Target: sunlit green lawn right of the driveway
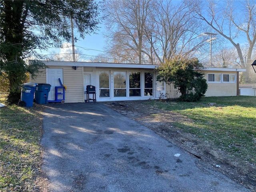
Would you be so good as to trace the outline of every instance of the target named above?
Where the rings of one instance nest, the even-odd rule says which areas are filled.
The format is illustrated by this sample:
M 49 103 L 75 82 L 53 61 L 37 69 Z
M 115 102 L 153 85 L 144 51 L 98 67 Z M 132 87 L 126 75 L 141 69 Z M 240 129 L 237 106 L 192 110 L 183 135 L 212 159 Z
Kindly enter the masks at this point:
M 256 163 L 256 97 L 205 97 L 200 102 L 152 101 L 151 104 L 193 120 L 174 124 L 184 132 L 214 144 L 231 157 Z

